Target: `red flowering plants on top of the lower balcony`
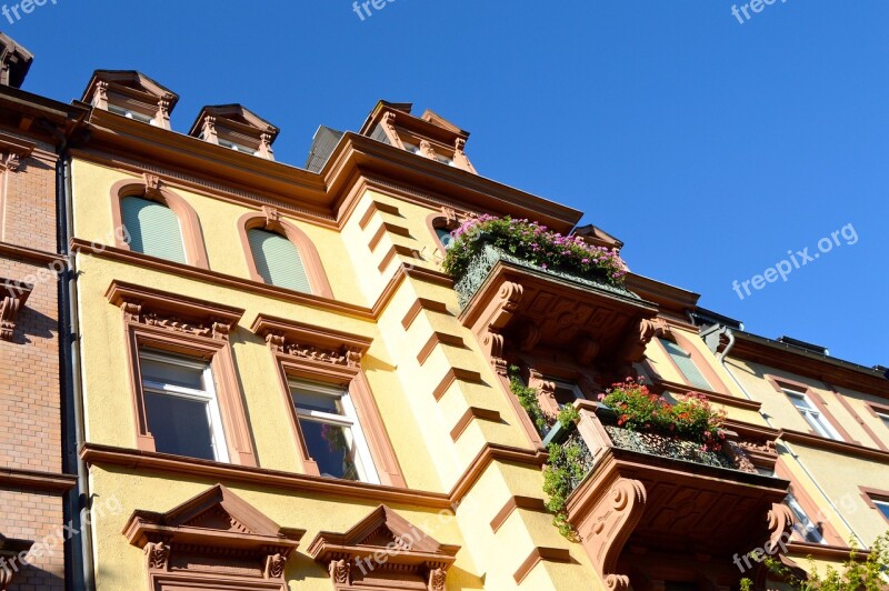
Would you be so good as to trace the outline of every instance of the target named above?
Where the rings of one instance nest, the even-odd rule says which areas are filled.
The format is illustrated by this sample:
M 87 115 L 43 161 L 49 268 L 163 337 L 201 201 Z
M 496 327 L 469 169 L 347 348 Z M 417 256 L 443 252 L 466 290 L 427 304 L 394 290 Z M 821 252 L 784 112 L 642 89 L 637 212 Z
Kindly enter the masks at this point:
M 599 400 L 617 414 L 618 427 L 695 441 L 701 443 L 703 451 L 720 451 L 726 440 L 720 430 L 726 412 L 713 410 L 707 397 L 697 392 L 676 399 L 677 403 L 670 404 L 633 378 L 599 394 Z

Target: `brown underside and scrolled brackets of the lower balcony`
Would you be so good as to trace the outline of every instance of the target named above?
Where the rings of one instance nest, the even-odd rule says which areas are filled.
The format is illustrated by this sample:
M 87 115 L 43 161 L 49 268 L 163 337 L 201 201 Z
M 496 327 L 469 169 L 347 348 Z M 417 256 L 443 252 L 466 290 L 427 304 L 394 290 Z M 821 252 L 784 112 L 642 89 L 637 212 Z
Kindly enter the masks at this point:
M 642 589 L 663 572 L 678 580 L 683 569 L 708 572 L 721 587 L 740 578 L 736 554 L 789 529 L 780 504 L 787 487 L 757 473 L 609 448 L 569 499 L 569 522 L 613 588 Z

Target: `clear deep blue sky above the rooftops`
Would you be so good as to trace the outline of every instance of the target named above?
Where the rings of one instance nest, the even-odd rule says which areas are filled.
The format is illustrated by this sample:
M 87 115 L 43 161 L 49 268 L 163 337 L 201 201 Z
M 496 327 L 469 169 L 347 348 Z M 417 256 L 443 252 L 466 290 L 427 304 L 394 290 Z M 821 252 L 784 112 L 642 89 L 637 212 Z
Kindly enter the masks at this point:
M 27 90 L 68 101 L 94 69 L 138 69 L 181 96 L 177 130 L 242 102 L 297 166 L 378 99 L 431 108 L 472 132 L 481 174 L 585 211 L 633 271 L 889 364 L 889 3 L 778 0 L 743 24 L 732 4 L 394 0 L 362 21 L 351 0 L 57 0 L 0 26 L 37 56 Z M 847 224 L 856 243 L 732 291 Z

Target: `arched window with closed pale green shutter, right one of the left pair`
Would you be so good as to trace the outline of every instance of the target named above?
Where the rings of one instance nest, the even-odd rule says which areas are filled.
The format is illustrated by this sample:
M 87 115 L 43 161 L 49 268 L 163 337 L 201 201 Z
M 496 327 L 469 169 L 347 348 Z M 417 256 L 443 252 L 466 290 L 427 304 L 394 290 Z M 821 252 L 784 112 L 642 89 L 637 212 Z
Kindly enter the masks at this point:
M 253 281 L 333 299 L 318 249 L 309 237 L 273 208 L 246 213 L 238 232 Z

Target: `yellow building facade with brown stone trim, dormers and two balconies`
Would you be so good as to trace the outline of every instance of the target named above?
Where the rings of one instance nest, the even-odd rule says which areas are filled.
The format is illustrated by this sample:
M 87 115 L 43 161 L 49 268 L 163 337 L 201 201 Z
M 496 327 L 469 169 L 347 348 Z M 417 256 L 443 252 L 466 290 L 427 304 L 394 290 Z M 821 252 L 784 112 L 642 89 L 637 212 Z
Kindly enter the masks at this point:
M 469 134 L 432 111 L 381 101 L 357 132 L 320 128 L 298 168 L 240 104 L 177 132 L 178 99 L 97 71 L 50 183 L 77 278 L 66 420 L 84 528 L 69 588 L 737 589 L 769 582 L 757 549 L 822 565 L 849 534 L 879 535 L 876 370 L 802 371 L 796 351 L 633 273 L 573 276 L 492 246 L 444 272 L 455 231 L 488 216 L 622 243 L 479 174 Z M 628 377 L 671 401 L 705 394 L 727 415 L 723 451 L 616 424 L 598 399 Z M 780 405 L 800 384 L 837 389 L 825 398 L 849 439 L 818 432 L 820 407 Z M 567 534 L 543 492 L 551 445 L 585 467 Z M 847 457 L 860 463 L 833 482 Z M 857 517 L 837 501 L 852 483 Z

